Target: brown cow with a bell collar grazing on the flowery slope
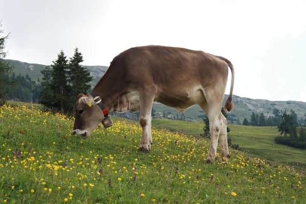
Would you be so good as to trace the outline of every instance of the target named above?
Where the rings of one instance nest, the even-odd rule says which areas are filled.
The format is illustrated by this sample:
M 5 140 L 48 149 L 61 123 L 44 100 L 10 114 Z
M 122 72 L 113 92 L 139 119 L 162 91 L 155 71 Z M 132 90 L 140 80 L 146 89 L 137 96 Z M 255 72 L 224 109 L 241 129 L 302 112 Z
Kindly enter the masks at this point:
M 226 118 L 221 114 L 228 67 L 232 71 L 230 95 L 224 109 L 231 111 L 234 88 L 233 64 L 220 56 L 180 47 L 140 46 L 125 50 L 110 63 L 91 93 L 78 95 L 73 134 L 89 137 L 100 122 L 112 124 L 108 114 L 114 111 L 140 111 L 142 136 L 139 150 L 151 150 L 152 103 L 185 111 L 198 104 L 210 121 L 211 144 L 207 162 L 230 158 Z

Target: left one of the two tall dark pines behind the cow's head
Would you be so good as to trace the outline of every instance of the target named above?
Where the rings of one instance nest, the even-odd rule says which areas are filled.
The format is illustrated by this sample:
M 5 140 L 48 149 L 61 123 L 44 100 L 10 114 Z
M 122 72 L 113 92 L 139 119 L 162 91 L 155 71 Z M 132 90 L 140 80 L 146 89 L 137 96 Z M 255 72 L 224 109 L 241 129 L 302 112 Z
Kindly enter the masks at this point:
M 69 109 L 69 107 L 66 105 L 69 101 L 69 87 L 67 84 L 67 62 L 68 61 L 65 54 L 63 50 L 61 50 L 60 54 L 58 54 L 58 59 L 53 61 L 53 64 L 51 65 L 53 71 L 50 87 L 53 90 L 53 97 L 55 101 L 53 107 L 62 112 L 66 112 Z

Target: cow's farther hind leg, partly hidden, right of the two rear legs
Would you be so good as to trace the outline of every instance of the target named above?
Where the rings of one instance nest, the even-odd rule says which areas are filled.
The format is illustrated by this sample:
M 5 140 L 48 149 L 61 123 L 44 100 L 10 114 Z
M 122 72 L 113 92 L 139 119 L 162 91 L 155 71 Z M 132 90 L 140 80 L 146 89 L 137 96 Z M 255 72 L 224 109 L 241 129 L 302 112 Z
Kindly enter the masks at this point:
M 221 130 L 219 135 L 220 157 L 222 161 L 227 163 L 227 158 L 230 158 L 230 152 L 228 151 L 228 143 L 227 143 L 227 120 L 222 113 L 220 113 L 220 117 L 222 119 Z

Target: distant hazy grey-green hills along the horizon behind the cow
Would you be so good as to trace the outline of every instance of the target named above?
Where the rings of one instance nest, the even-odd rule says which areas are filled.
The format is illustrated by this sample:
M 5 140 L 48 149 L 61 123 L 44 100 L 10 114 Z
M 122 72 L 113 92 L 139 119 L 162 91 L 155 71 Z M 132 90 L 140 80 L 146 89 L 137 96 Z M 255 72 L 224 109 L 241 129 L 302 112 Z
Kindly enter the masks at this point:
M 16 60 L 9 60 L 14 64 L 15 74 L 29 74 L 30 78 L 37 81 L 39 78 L 41 80 L 42 74 L 40 71 L 44 69 L 46 65 L 41 64 L 29 64 L 26 62 L 20 62 Z M 84 66 L 89 69 L 90 75 L 93 77 L 91 82 L 92 88 L 103 76 L 107 70 L 107 66 Z M 235 88 L 234 88 L 235 92 Z M 227 95 L 224 96 L 224 101 Z M 233 96 L 233 103 L 235 105 L 234 109 L 228 113 L 228 122 L 231 124 L 241 124 L 244 118 L 249 119 L 252 112 L 263 113 L 265 116 L 272 116 L 272 111 L 274 108 L 279 110 L 294 110 L 298 116 L 299 122 L 304 123 L 303 119 L 306 118 L 306 103 L 301 101 L 269 101 L 265 99 L 251 99 L 246 97 L 240 97 L 237 95 Z M 174 108 L 164 106 L 160 103 L 154 103 L 153 106 L 156 111 L 156 118 L 167 118 L 167 119 L 181 119 L 185 117 L 185 121 L 191 122 L 202 122 L 202 118 L 205 116 L 203 110 L 198 106 L 192 106 L 186 110 L 186 112 L 178 112 Z M 165 115 L 164 115 L 165 114 Z M 124 115 L 127 118 L 137 118 L 133 113 L 119 114 Z

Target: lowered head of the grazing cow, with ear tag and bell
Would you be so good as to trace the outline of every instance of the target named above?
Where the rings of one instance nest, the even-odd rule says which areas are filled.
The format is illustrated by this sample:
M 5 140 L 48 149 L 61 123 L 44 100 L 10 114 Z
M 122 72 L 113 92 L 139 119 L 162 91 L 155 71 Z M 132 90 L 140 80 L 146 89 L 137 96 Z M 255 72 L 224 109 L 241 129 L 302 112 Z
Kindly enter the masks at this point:
M 91 94 L 81 93 L 78 95 L 72 134 L 89 137 L 100 122 L 103 122 L 105 127 L 111 125 L 110 117 L 105 117 L 97 101 L 100 101 L 100 98 L 95 101 Z

